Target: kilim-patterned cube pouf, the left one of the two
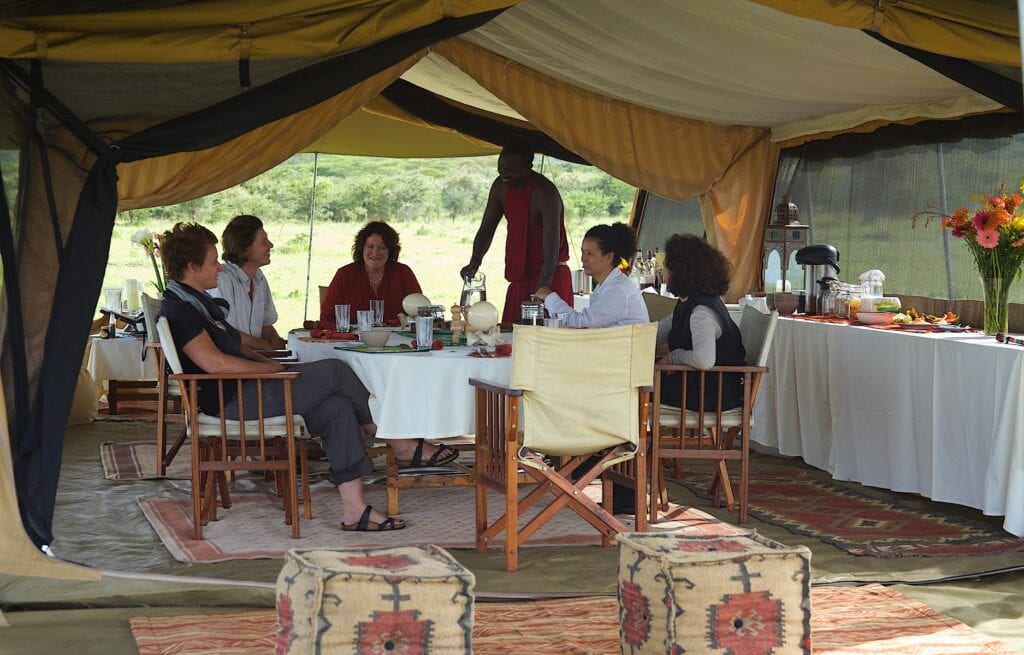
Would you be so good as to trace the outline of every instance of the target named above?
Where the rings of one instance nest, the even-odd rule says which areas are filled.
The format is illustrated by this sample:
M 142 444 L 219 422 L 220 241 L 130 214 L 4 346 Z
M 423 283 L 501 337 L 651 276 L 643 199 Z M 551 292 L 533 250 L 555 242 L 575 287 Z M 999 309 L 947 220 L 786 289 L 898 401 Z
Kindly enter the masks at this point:
M 475 581 L 435 545 L 289 551 L 276 653 L 472 653 Z

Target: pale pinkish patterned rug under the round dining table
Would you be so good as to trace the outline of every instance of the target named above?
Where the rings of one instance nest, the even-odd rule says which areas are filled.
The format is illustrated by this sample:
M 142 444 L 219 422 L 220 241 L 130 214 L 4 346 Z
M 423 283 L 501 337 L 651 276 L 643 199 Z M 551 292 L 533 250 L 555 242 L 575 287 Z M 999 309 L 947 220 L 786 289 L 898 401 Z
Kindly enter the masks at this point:
M 600 494 L 599 486 L 588 492 Z M 525 493 L 525 491 L 523 492 Z M 160 535 L 167 550 L 179 562 L 223 562 L 280 558 L 289 549 L 377 548 L 433 543 L 441 548 L 469 549 L 475 544 L 475 494 L 468 487 L 402 489 L 399 493 L 401 516 L 409 524 L 390 532 L 344 532 L 341 530 L 341 500 L 331 488 L 312 492 L 313 518 L 302 520 L 302 538 L 291 538 L 285 525 L 281 501 L 262 493 L 232 493 L 231 508 L 220 510 L 217 521 L 203 528 L 203 539 L 191 538 L 191 500 L 169 498 L 140 499 L 142 513 Z M 377 508 L 387 507 L 384 489 L 366 487 L 367 501 Z M 488 516 L 505 512 L 505 497 L 488 493 Z M 534 506 L 520 523 L 525 524 L 540 512 Z M 632 517 L 620 516 L 627 527 Z M 684 531 L 687 534 L 736 534 L 741 530 L 722 523 L 698 510 L 676 507 L 663 519 L 656 531 Z M 523 543 L 567 545 L 599 543 L 600 535 L 589 523 L 569 510 L 559 512 Z M 500 548 L 501 539 L 492 542 Z

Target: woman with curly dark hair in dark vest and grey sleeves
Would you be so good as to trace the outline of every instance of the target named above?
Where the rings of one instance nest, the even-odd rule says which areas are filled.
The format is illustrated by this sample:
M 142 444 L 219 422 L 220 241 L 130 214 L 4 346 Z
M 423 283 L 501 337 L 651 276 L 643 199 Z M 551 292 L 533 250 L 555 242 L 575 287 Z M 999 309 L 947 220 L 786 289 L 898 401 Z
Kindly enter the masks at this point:
M 685 364 L 707 369 L 715 365 L 743 365 L 743 342 L 739 328 L 729 317 L 722 294 L 729 288 L 729 261 L 718 249 L 693 234 L 674 234 L 665 244 L 662 281 L 679 297 L 672 316 L 658 322 L 657 342 L 669 344 L 662 363 Z M 699 376 L 688 374 L 686 408 L 700 407 Z M 740 378 L 723 377 L 722 408 L 742 404 Z M 682 385 L 668 375 L 662 382 L 662 402 L 682 406 Z M 718 376 L 705 383 L 703 407 L 718 404 Z

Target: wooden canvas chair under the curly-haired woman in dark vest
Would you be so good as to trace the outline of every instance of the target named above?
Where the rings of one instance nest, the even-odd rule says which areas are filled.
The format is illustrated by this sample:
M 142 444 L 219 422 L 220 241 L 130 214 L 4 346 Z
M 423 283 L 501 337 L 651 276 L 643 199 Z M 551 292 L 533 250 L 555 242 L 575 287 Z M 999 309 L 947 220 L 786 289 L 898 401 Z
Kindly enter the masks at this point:
M 651 418 L 651 489 L 659 495 L 659 501 L 650 504 L 650 520 L 657 520 L 658 507 L 668 509 L 668 497 L 663 492 L 662 460 L 711 460 L 715 462 L 715 473 L 711 488 L 716 505 L 721 492 L 726 495 L 726 503 L 737 510 L 739 522 L 746 522 L 748 482 L 750 476 L 750 439 L 754 426 L 754 403 L 757 400 L 758 389 L 762 377 L 768 373 L 768 354 L 775 335 L 778 313 L 764 314 L 758 309 L 746 306 L 739 322 L 739 334 L 746 353 L 745 366 L 713 366 L 706 370 L 691 366 L 675 364 L 658 364 L 655 368 L 657 378 L 654 382 L 654 409 Z M 718 409 L 717 407 L 702 409 L 681 409 L 660 403 L 662 372 L 679 374 L 680 384 L 684 385 L 681 397 L 685 398 L 687 375 L 695 375 L 699 384 L 706 380 L 724 375 L 740 376 L 743 385 L 743 401 L 739 407 Z M 675 384 L 673 382 L 672 384 Z M 720 387 L 721 389 L 721 387 Z M 721 392 L 719 393 L 721 403 Z M 738 449 L 734 448 L 739 437 Z M 739 463 L 739 497 L 733 494 L 729 481 L 728 461 Z

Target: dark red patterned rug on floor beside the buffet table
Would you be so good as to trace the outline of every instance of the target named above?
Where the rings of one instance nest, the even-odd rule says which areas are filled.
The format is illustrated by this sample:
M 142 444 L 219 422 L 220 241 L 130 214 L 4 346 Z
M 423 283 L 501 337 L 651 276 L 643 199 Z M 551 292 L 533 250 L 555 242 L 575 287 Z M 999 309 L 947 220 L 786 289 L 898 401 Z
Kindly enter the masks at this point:
M 986 523 L 922 513 L 860 493 L 826 475 L 795 467 L 752 470 L 750 513 L 851 555 L 979 557 L 1024 551 L 1024 539 Z M 708 497 L 711 475 L 688 470 L 679 482 Z

